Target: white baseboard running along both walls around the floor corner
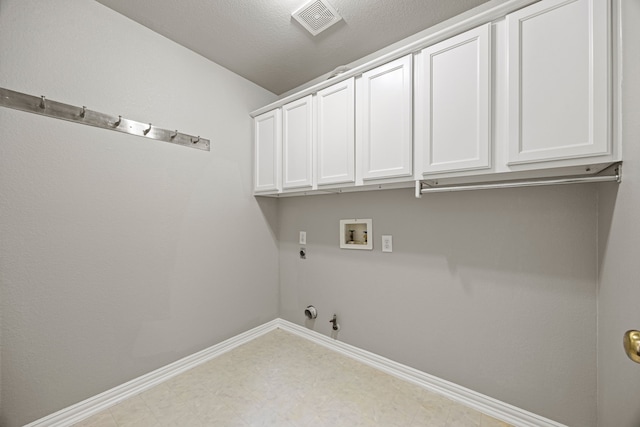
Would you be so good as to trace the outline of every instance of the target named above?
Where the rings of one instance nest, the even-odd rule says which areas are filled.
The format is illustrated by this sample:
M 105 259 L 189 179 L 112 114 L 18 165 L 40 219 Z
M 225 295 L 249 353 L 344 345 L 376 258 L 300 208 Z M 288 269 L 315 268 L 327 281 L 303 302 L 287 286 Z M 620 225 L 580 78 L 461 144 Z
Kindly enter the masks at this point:
M 169 378 L 179 375 L 278 328 L 337 351 L 390 375 L 409 381 L 429 391 L 441 394 L 451 400 L 503 420 L 516 427 L 567 427 L 564 424 L 557 423 L 489 396 L 476 393 L 473 390 L 442 380 L 369 351 L 337 341 L 283 319 L 275 319 L 267 322 L 191 356 L 187 356 L 153 372 L 142 375 L 111 390 L 107 390 L 104 393 L 27 424 L 24 427 L 69 427 L 125 399 L 154 387 Z

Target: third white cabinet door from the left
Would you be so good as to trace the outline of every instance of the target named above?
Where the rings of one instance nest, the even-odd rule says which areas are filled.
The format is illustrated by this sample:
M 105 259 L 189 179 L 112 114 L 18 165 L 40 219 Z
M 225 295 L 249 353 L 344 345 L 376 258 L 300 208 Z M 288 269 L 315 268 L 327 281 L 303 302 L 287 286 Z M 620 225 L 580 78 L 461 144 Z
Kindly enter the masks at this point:
M 318 92 L 317 183 L 355 181 L 355 99 L 353 78 Z

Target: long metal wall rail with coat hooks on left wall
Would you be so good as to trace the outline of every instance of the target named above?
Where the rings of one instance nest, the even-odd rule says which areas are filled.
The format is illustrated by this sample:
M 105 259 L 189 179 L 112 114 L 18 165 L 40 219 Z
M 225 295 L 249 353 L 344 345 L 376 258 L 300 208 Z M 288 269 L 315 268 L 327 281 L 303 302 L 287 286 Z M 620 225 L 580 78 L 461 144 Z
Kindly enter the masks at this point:
M 111 116 L 61 102 L 51 101 L 44 96 L 27 95 L 21 92 L 0 87 L 0 106 L 15 110 L 40 114 L 55 119 L 67 120 L 83 125 L 114 130 L 131 135 L 151 138 L 158 141 L 170 142 L 185 147 L 209 151 L 211 144 L 208 139 L 187 135 L 177 130 L 161 129 L 151 123 L 136 122 L 122 116 Z

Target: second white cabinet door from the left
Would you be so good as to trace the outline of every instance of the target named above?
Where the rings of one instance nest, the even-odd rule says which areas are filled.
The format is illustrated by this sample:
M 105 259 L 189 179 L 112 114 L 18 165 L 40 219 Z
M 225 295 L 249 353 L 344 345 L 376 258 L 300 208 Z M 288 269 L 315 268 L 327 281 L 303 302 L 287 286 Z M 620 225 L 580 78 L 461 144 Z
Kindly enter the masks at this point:
M 312 96 L 282 107 L 282 188 L 311 187 L 313 154 Z

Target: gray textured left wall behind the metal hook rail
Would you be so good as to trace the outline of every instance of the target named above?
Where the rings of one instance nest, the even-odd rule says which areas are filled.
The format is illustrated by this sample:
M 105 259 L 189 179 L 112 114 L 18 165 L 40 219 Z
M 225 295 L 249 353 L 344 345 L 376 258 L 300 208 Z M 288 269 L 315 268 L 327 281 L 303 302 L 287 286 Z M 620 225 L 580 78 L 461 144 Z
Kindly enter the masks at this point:
M 252 196 L 248 116 L 274 95 L 85 0 L 2 0 L 0 86 L 212 141 L 0 108 L 0 425 L 278 315 L 277 206 Z

